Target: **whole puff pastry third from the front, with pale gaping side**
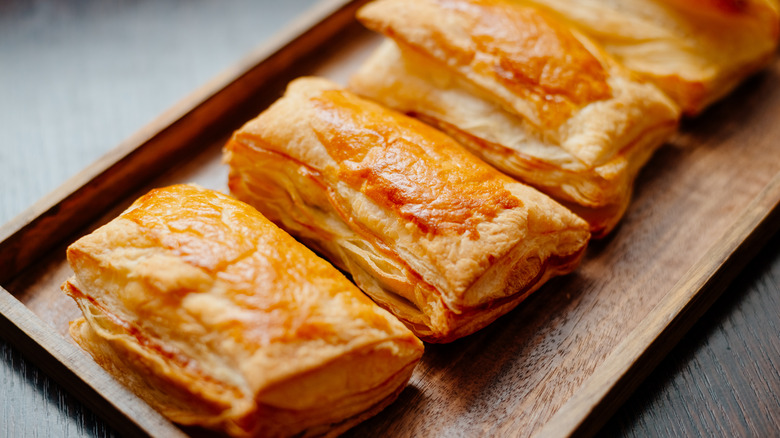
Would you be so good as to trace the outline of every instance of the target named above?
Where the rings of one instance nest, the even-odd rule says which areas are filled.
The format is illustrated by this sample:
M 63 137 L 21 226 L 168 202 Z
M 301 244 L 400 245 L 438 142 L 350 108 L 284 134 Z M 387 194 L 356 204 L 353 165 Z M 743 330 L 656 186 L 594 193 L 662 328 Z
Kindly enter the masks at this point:
M 608 233 L 675 131 L 676 105 L 570 26 L 522 2 L 378 0 L 386 41 L 349 88 L 444 130 Z

